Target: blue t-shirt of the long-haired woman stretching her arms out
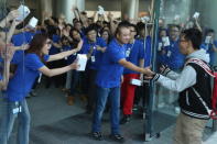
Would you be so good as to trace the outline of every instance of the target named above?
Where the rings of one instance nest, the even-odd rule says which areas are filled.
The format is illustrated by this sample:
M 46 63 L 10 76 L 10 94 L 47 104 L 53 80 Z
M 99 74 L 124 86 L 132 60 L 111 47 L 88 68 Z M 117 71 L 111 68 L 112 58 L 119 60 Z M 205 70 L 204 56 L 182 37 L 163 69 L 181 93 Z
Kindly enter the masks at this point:
M 44 60 L 48 55 L 44 56 Z M 14 76 L 9 80 L 6 91 L 9 101 L 21 101 L 32 89 L 35 79 L 40 76 L 39 69 L 44 64 L 36 54 L 26 54 L 24 63 L 19 63 Z

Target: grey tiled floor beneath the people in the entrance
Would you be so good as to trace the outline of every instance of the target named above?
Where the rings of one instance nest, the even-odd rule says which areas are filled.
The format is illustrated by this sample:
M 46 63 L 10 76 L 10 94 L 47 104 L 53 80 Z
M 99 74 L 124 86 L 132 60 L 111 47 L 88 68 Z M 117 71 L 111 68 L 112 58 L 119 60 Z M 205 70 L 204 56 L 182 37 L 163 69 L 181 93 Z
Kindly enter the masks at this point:
M 104 118 L 104 141 L 95 141 L 89 136 L 91 117 L 83 114 L 85 103 L 76 98 L 74 106 L 66 104 L 66 97 L 56 88 L 37 89 L 37 96 L 28 99 L 31 111 L 32 124 L 30 144 L 110 144 L 108 139 L 109 119 Z M 138 124 L 140 123 L 140 124 Z M 15 128 L 15 126 L 14 126 Z M 144 142 L 142 137 L 143 121 L 133 120 L 128 125 L 121 125 L 126 136 L 126 144 L 171 144 L 173 125 L 161 133 L 160 139 Z M 204 139 L 210 135 L 210 129 L 206 129 Z M 213 136 L 216 139 L 216 136 Z M 15 132 L 12 134 L 10 144 L 15 144 Z M 206 144 L 214 144 L 207 141 Z

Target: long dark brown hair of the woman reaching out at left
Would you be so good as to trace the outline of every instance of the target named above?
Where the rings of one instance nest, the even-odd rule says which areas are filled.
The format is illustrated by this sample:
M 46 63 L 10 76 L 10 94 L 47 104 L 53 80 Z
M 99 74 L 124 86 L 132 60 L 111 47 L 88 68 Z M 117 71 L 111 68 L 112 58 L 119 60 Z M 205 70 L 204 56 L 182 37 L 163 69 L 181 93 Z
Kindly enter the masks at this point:
M 35 34 L 30 43 L 30 47 L 25 51 L 25 54 L 35 53 L 41 59 L 43 59 L 42 48 L 48 36 L 46 34 Z

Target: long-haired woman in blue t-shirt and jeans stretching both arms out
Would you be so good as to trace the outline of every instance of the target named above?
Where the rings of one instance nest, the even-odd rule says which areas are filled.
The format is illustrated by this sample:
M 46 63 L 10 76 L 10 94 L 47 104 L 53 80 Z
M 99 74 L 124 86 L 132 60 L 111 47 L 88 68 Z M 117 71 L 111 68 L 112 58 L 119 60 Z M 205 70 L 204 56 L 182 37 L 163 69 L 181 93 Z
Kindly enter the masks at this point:
M 1 144 L 9 140 L 15 118 L 19 119 L 19 144 L 29 144 L 30 112 L 25 97 L 30 92 L 35 78 L 41 74 L 52 77 L 77 68 L 77 64 L 73 63 L 65 67 L 50 69 L 44 63 L 62 59 L 76 53 L 80 49 L 83 41 L 79 42 L 77 48 L 56 55 L 48 55 L 51 44 L 51 40 L 45 34 L 36 34 L 30 43 L 29 49 L 25 51 L 24 57 L 20 57 L 23 62 L 18 64 L 14 76 L 10 79 L 4 92 L 7 108 L 3 111 L 8 113 L 0 125 Z

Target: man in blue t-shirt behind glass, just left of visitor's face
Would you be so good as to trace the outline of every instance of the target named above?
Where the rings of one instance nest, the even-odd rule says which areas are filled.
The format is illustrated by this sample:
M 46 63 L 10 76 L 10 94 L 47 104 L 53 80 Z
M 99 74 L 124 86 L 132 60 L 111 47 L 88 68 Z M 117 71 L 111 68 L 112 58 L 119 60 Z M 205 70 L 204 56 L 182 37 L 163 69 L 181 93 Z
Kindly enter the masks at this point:
M 178 25 L 171 25 L 170 27 L 170 42 L 169 46 L 165 46 L 165 59 L 163 65 L 166 65 L 170 69 L 181 73 L 185 56 L 180 52 L 180 33 L 181 27 Z M 165 44 L 165 42 L 164 42 Z M 177 104 L 178 93 L 172 90 L 160 88 L 159 93 L 166 93 L 165 97 L 159 97 L 159 108 L 167 106 L 174 107 L 174 112 L 180 113 L 180 107 Z

